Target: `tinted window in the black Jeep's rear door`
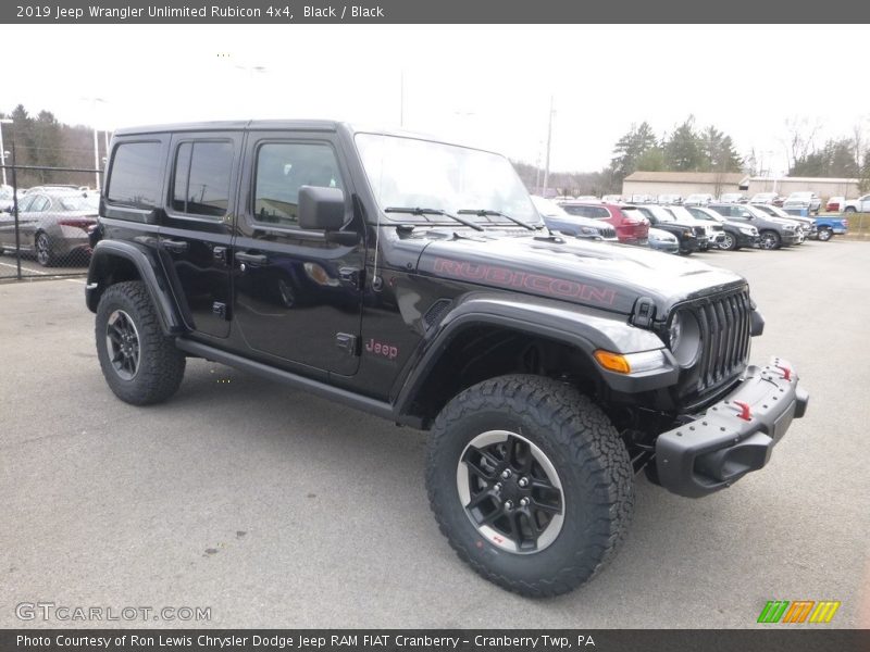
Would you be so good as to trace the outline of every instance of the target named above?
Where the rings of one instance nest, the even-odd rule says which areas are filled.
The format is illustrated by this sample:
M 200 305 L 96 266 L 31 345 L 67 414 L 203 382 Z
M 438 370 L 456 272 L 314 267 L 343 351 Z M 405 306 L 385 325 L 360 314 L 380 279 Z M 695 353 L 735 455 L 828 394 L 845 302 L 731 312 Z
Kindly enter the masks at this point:
M 229 208 L 232 142 L 183 142 L 175 153 L 172 209 L 188 215 L 223 217 Z

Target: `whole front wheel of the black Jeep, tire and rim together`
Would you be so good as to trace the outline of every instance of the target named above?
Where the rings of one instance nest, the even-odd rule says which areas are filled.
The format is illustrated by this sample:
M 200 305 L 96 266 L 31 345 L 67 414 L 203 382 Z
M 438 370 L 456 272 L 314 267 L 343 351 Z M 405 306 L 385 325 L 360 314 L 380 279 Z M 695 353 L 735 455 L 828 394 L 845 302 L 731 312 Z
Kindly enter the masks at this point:
M 430 435 L 426 487 L 442 532 L 481 576 L 523 595 L 591 579 L 627 530 L 632 464 L 608 417 L 538 376 L 475 385 Z

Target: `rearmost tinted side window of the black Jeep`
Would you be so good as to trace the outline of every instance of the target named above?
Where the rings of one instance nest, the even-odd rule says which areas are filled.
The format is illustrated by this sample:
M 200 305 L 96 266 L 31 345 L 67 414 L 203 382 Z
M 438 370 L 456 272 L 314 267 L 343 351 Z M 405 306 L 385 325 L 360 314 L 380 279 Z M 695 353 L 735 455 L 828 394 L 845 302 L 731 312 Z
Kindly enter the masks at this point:
M 158 205 L 161 168 L 159 142 L 122 142 L 112 161 L 105 199 L 135 208 Z

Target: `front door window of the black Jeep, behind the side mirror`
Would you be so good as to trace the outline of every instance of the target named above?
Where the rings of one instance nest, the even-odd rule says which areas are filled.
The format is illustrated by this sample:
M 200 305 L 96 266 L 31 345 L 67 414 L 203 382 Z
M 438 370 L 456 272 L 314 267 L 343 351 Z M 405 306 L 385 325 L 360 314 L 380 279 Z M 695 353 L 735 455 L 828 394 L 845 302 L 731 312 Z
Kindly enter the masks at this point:
M 265 142 L 257 150 L 253 218 L 296 226 L 299 188 L 343 188 L 332 147 L 315 142 Z

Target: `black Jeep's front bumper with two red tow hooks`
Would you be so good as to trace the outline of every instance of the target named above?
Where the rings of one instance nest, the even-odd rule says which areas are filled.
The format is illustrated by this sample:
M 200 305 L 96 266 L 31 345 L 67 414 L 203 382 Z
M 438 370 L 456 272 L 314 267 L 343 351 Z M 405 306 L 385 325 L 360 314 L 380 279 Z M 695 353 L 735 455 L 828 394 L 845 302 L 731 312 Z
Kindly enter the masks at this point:
M 659 484 L 673 493 L 698 498 L 763 467 L 792 419 L 807 410 L 809 394 L 797 384 L 792 365 L 779 358 L 765 367 L 748 367 L 728 397 L 659 435 L 655 459 Z

